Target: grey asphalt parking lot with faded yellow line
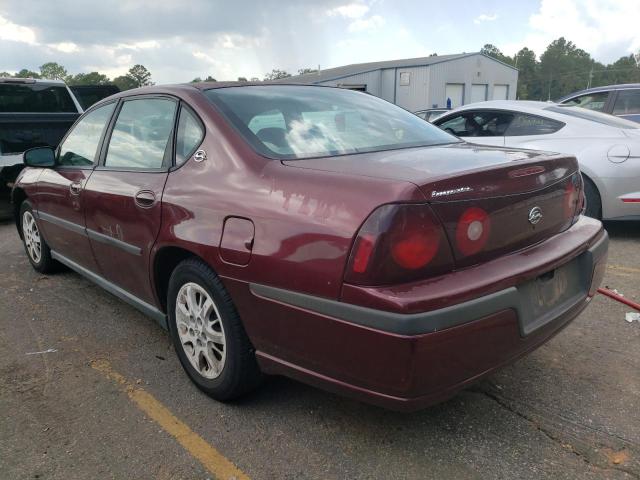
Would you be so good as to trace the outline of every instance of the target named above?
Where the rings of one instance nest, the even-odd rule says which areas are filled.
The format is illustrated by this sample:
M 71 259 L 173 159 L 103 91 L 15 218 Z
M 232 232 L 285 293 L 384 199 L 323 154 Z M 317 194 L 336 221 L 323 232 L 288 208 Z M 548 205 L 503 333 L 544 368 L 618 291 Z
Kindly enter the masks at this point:
M 604 284 L 640 301 L 640 224 L 607 228 Z M 417 413 L 284 378 L 221 404 L 153 320 L 75 273 L 38 274 L 0 224 L 0 478 L 637 479 L 629 311 L 598 295 L 540 349 Z

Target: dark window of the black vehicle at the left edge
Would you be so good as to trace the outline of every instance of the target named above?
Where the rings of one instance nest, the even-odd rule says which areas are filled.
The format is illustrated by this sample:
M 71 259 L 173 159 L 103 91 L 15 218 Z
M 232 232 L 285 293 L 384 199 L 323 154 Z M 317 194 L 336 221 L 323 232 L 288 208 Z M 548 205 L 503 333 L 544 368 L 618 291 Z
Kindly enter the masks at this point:
M 64 85 L 0 84 L 1 113 L 77 113 Z

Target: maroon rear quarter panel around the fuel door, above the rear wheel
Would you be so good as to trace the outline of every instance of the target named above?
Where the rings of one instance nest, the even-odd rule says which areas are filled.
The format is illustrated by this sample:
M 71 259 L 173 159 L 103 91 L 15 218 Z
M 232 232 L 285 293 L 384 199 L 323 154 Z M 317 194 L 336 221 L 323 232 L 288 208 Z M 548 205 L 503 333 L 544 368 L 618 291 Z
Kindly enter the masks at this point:
M 383 203 L 425 200 L 408 182 L 293 168 L 261 157 L 204 98 L 189 103 L 207 125 L 200 147 L 207 160 L 190 159 L 169 174 L 155 251 L 185 248 L 223 279 L 337 299 L 352 239 L 366 217 Z M 255 227 L 246 266 L 220 258 L 224 221 L 231 216 Z

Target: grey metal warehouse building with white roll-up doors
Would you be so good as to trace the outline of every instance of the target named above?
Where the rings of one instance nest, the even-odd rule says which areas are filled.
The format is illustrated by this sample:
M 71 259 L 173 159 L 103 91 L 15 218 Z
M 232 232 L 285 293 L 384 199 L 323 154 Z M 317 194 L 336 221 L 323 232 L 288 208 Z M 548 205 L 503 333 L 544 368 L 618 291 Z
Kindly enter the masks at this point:
M 283 79 L 362 90 L 412 112 L 514 100 L 518 70 L 479 52 L 358 63 Z

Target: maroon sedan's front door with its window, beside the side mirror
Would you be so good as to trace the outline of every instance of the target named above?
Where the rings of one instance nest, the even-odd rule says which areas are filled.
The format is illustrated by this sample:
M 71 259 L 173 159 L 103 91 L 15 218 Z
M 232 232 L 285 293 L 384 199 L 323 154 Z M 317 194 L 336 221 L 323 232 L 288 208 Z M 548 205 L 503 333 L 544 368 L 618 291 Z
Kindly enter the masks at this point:
M 34 199 L 40 227 L 55 252 L 97 271 L 85 231 L 85 194 L 98 158 L 98 146 L 115 103 L 88 112 L 60 144 L 56 166 L 45 169 Z

